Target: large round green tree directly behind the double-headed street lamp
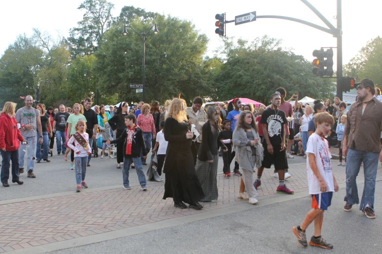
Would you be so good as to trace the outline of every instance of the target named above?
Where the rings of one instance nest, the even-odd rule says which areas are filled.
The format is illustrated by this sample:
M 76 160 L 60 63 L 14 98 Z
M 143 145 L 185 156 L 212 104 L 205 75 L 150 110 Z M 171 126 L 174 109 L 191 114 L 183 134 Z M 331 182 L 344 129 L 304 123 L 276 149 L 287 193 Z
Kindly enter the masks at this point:
M 178 96 L 190 101 L 208 88 L 203 80 L 203 54 L 208 39 L 186 20 L 158 15 L 151 22 L 135 18 L 130 25 L 136 31 L 147 31 L 157 23 L 159 33 L 146 36 L 146 101 Z M 101 73 L 103 91 L 115 91 L 119 99 L 139 101 L 141 93 L 129 84 L 142 82 L 142 38 L 132 30 L 121 34 L 123 23 L 115 23 L 104 36 L 102 48 L 96 53 L 95 69 Z

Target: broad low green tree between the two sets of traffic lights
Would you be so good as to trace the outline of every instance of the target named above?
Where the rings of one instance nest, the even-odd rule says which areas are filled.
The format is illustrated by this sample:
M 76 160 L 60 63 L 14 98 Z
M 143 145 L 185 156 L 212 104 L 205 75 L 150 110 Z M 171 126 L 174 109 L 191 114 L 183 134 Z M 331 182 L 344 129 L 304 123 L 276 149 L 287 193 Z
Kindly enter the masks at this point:
M 334 91 L 331 80 L 314 76 L 311 63 L 282 49 L 281 40 L 263 36 L 251 43 L 242 39 L 235 43 L 233 38 L 223 42 L 217 53 L 224 63 L 213 81 L 216 99 L 246 97 L 267 104 L 278 87 L 285 88 L 288 95 L 298 93 L 300 98 L 324 99 Z

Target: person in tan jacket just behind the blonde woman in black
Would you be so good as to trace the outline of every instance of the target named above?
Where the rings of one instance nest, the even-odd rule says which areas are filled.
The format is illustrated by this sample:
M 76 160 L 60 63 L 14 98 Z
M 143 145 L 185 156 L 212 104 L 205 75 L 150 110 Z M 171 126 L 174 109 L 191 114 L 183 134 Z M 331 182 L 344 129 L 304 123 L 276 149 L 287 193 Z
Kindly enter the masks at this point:
M 201 105 L 203 104 L 203 99 L 201 97 L 195 97 L 192 102 L 192 107 L 186 109 L 187 117 L 190 124 L 194 124 L 196 130 L 199 132 L 199 137 L 194 140 L 196 145 L 196 152 L 199 152 L 199 147 L 201 146 L 201 128 L 204 123 L 207 122 L 207 114 L 203 109 L 201 109 Z

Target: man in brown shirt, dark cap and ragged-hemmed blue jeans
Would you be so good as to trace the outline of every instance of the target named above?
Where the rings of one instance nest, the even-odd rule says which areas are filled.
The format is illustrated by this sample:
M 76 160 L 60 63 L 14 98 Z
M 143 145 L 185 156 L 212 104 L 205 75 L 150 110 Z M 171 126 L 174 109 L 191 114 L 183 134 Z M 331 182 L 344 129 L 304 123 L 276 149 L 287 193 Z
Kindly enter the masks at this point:
M 361 163 L 365 184 L 360 210 L 367 218 L 375 218 L 374 192 L 378 169 L 378 159 L 382 160 L 380 145 L 382 130 L 382 102 L 375 94 L 374 82 L 362 79 L 357 85 L 358 102 L 354 102 L 347 112 L 345 134 L 342 140 L 346 164 L 346 201 L 343 209 L 349 212 L 353 204 L 359 204 L 356 178 Z

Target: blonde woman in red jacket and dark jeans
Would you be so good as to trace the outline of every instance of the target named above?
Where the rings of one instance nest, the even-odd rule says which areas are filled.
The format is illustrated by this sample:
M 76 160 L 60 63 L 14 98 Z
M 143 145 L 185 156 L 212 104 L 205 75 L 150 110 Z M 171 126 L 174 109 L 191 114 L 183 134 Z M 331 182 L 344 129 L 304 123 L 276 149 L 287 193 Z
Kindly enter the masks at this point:
M 14 118 L 16 103 L 6 102 L 0 116 L 0 152 L 2 186 L 9 187 L 9 167 L 12 161 L 12 182 L 23 184 L 19 180 L 19 147 L 20 142 L 26 141 L 20 134 L 18 123 Z

